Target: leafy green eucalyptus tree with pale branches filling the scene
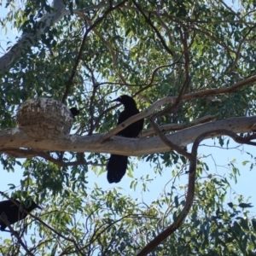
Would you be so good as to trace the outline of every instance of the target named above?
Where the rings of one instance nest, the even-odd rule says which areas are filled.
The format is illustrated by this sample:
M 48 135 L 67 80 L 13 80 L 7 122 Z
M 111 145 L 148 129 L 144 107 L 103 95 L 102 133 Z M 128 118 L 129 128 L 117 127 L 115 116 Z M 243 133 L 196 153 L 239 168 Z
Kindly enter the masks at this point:
M 242 196 L 225 205 L 229 180 L 214 172 L 203 177 L 209 170 L 198 155 L 209 137 L 220 147 L 228 148 L 227 137 L 255 146 L 253 3 L 4 4 L 3 30 L 15 29 L 19 36 L 0 57 L 1 162 L 8 172 L 20 166 L 23 178 L 2 195 L 32 196 L 44 209 L 26 218 L 20 236 L 12 230 L 14 237 L 2 242 L 0 252 L 253 255 L 256 224 L 246 210 L 251 205 Z M 141 113 L 115 127 L 119 105 L 110 101 L 122 94 L 134 97 Z M 47 119 L 33 135 L 16 127 L 20 104 L 38 98 L 79 108 L 73 135 L 47 137 Z M 56 112 L 51 119 L 67 115 Z M 139 138 L 114 136 L 143 118 Z M 119 189 L 87 183 L 90 172 L 106 174 L 108 154 L 149 162 L 156 179 L 164 166 L 172 168 L 171 189 L 146 204 Z M 251 158 L 253 168 L 253 153 Z M 236 179 L 239 170 L 231 170 Z M 189 182 L 179 187 L 182 175 Z M 141 183 L 146 191 L 151 182 L 143 175 L 131 179 L 131 188 Z

